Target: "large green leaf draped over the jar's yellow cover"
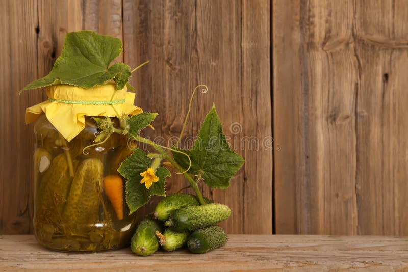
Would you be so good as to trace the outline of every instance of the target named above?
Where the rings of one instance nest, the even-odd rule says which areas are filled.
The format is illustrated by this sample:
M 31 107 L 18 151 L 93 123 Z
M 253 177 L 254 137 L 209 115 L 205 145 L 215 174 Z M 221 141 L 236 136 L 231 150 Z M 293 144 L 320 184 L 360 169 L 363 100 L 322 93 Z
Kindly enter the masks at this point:
M 65 37 L 61 56 L 45 77 L 24 86 L 23 90 L 68 84 L 92 88 L 114 80 L 118 90 L 126 85 L 131 76 L 130 67 L 124 63 L 109 64 L 122 52 L 118 38 L 99 35 L 93 31 L 70 32 Z

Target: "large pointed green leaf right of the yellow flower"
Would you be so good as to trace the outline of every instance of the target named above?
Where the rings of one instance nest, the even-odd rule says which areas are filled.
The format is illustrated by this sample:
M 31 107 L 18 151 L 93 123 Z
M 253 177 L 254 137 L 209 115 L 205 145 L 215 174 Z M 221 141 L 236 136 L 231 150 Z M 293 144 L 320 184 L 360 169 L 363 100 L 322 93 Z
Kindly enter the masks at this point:
M 230 149 L 225 135 L 222 133 L 221 121 L 215 105 L 207 114 L 190 150 L 182 150 L 190 156 L 193 175 L 202 175 L 203 181 L 210 188 L 225 189 L 230 187 L 231 178 L 244 164 L 244 159 Z M 177 152 L 173 157 L 184 169 L 188 168 L 188 158 Z

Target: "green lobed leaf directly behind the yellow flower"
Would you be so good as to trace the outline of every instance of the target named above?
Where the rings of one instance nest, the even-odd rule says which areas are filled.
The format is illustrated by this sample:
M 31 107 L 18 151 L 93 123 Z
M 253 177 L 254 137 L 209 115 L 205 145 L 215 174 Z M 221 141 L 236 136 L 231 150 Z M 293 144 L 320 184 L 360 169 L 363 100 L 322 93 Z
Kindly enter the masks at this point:
M 143 178 L 140 173 L 146 171 L 150 163 L 151 160 L 146 157 L 146 153 L 141 149 L 136 149 L 118 169 L 118 172 L 126 179 L 126 203 L 130 210 L 129 214 L 146 204 L 152 195 L 166 196 L 165 182 L 167 177 L 171 177 L 171 173 L 163 166 L 156 170 L 158 182 L 153 183 L 149 189 L 144 184 L 140 184 Z

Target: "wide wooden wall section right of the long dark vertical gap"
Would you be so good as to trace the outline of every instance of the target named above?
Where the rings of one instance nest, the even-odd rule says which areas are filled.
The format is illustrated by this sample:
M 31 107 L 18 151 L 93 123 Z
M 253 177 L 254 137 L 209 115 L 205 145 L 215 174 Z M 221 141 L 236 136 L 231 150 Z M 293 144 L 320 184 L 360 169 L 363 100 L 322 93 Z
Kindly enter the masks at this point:
M 408 233 L 407 14 L 273 2 L 276 233 Z

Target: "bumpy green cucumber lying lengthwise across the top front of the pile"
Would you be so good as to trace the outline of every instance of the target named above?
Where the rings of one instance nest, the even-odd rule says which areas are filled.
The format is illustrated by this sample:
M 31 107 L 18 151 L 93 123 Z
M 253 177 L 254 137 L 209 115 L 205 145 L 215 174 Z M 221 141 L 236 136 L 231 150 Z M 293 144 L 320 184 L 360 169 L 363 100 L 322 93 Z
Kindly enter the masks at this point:
M 194 231 L 217 224 L 230 215 L 230 208 L 222 204 L 185 207 L 172 212 L 164 225 L 178 232 Z

